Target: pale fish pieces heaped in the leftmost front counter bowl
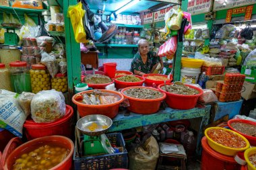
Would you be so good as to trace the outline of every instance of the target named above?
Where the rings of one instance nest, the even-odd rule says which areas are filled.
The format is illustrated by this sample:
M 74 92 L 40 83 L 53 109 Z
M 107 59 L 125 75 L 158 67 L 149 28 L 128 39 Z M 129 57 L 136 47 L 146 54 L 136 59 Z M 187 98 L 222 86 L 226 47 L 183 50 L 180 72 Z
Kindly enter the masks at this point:
M 113 93 L 94 90 L 92 93 L 75 95 L 75 100 L 88 105 L 110 104 L 119 101 L 119 97 Z

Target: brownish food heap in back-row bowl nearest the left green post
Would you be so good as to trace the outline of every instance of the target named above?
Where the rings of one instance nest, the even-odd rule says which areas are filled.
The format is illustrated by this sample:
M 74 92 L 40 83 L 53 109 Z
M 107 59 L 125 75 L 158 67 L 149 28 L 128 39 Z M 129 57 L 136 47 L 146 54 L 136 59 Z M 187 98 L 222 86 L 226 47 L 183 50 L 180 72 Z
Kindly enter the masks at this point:
M 106 75 L 86 75 L 84 82 L 88 84 L 105 84 L 110 83 L 111 79 Z

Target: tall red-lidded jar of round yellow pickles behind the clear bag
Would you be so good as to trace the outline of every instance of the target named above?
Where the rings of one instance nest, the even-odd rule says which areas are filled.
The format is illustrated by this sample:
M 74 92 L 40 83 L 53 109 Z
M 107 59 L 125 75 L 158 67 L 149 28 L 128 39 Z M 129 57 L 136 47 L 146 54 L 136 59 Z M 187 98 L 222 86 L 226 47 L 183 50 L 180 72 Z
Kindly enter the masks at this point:
M 32 65 L 30 69 L 32 93 L 51 89 L 50 74 L 44 65 Z

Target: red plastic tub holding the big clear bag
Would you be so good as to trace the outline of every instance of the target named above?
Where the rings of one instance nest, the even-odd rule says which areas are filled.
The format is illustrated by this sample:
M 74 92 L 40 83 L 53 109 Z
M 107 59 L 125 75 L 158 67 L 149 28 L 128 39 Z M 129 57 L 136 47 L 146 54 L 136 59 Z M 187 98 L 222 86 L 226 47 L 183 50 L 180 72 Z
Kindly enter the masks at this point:
M 72 128 L 71 119 L 73 117 L 73 108 L 66 105 L 66 114 L 63 118 L 51 123 L 36 123 L 32 118 L 28 118 L 24 123 L 25 134 L 28 140 L 40 138 L 43 136 L 61 135 L 71 138 Z

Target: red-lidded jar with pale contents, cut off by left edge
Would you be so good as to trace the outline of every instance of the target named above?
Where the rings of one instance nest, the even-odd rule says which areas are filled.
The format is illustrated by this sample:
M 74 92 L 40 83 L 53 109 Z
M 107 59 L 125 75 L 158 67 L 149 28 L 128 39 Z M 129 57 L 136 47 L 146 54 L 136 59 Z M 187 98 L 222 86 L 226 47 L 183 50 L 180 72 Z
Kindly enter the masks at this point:
M 11 91 L 11 79 L 10 73 L 7 68 L 5 68 L 5 64 L 0 63 L 0 89 L 5 89 Z

